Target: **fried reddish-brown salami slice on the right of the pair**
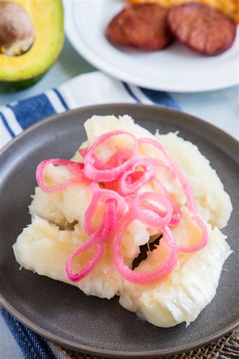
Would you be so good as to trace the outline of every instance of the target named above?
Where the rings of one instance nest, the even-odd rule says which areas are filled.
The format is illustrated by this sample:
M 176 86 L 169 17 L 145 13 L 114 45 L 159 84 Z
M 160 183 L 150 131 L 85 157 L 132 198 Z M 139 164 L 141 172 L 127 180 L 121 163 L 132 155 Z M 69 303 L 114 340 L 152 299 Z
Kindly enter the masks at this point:
M 220 55 L 235 39 L 235 23 L 204 4 L 187 3 L 171 8 L 167 20 L 173 35 L 200 54 Z

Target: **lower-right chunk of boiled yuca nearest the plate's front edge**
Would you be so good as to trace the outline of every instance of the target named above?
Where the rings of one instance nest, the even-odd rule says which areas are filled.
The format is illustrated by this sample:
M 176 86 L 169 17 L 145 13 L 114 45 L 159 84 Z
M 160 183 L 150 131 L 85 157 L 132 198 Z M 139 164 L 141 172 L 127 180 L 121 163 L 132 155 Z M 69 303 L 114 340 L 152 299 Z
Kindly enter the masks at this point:
M 197 228 L 189 224 L 187 209 L 182 209 L 180 228 L 174 235 L 181 244 L 189 244 L 197 238 Z M 193 253 L 178 254 L 175 270 L 163 281 L 149 286 L 137 286 L 126 281 L 120 295 L 120 303 L 135 312 L 141 319 L 159 327 L 171 327 L 182 322 L 193 322 L 216 294 L 223 263 L 230 254 L 230 247 L 218 228 L 207 225 L 207 245 Z M 184 241 L 184 243 L 183 243 Z M 141 262 L 137 271 L 152 269 L 162 257 L 159 245 Z

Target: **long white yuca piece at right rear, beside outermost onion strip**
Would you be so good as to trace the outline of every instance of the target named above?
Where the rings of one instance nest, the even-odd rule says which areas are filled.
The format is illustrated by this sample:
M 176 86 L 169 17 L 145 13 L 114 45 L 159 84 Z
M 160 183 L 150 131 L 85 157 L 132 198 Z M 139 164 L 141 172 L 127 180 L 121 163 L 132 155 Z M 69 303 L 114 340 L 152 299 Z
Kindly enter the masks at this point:
M 212 226 L 224 228 L 232 211 L 231 201 L 210 162 L 195 144 L 172 132 L 155 136 L 187 176 L 193 190 L 197 212 Z

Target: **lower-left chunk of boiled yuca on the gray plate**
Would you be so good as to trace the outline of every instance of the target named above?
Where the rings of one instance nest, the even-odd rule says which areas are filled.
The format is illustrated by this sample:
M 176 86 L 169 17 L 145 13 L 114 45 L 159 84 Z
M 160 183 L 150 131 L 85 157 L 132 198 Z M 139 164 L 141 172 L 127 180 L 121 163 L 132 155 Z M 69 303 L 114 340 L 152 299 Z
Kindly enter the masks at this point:
M 18 263 L 40 275 L 50 277 L 77 286 L 88 295 L 111 298 L 121 288 L 122 279 L 115 270 L 110 259 L 110 251 L 106 250 L 97 267 L 79 282 L 71 282 L 65 272 L 70 255 L 85 240 L 86 234 L 75 226 L 72 230 L 59 230 L 46 220 L 35 217 L 32 224 L 23 230 L 14 244 L 14 254 Z M 94 253 L 94 249 L 79 255 L 74 262 L 74 270 L 84 268 Z

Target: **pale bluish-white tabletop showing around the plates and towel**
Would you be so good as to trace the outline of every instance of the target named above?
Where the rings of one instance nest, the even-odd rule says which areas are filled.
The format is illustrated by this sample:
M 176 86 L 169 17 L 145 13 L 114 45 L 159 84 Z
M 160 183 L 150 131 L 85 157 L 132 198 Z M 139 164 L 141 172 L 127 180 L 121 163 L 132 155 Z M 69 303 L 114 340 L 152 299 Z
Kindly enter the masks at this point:
M 73 76 L 92 70 L 92 66 L 85 62 L 66 40 L 63 52 L 57 62 L 38 84 L 23 91 L 8 94 L 1 93 L 0 105 L 41 93 L 51 87 L 58 86 Z M 238 137 L 238 86 L 207 93 L 171 92 L 170 94 L 185 112 L 215 124 L 231 135 Z M 0 358 L 22 359 L 23 355 L 1 316 L 0 333 Z

